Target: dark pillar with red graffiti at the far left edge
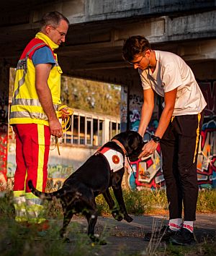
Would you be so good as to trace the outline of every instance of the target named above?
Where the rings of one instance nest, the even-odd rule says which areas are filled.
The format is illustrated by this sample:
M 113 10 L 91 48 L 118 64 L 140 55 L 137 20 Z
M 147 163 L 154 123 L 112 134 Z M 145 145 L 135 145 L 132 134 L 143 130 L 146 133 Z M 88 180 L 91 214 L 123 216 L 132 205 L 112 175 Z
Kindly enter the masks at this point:
M 9 109 L 9 64 L 0 59 L 0 192 L 6 188 Z

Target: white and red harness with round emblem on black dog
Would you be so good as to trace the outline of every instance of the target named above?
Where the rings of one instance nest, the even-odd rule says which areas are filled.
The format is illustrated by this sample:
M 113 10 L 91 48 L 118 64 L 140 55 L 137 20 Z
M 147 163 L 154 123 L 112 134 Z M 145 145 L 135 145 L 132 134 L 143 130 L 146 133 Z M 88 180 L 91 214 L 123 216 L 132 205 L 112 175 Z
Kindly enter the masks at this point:
M 112 148 L 102 148 L 97 151 L 97 153 L 101 153 L 104 155 L 104 158 L 107 159 L 109 163 L 109 168 L 111 171 L 119 171 L 122 167 L 125 166 L 125 159 L 122 153 L 117 150 L 113 150 Z

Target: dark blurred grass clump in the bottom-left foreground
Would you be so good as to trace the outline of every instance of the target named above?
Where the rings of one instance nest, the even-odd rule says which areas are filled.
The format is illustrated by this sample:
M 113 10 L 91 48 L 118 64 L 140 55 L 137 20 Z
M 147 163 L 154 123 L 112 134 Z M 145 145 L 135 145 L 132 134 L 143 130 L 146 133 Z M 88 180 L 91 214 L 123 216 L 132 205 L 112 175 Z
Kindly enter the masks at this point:
M 38 237 L 33 228 L 20 227 L 12 219 L 0 218 L 0 255 L 1 256 L 91 256 L 99 252 L 99 247 L 94 247 L 87 235 L 80 231 L 76 223 L 71 223 L 71 243 L 65 244 L 59 239 L 59 226 L 51 223 L 52 227 L 44 237 Z M 73 252 L 73 254 L 71 253 Z

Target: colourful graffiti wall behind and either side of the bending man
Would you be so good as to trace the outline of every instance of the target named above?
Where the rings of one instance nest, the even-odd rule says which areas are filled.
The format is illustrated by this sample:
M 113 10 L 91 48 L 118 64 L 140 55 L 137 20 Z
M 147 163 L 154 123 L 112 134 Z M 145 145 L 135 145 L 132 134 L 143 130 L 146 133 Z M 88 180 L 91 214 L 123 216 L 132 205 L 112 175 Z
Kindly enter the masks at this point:
M 216 81 L 199 82 L 207 107 L 204 111 L 204 124 L 199 141 L 197 178 L 200 188 L 216 187 Z M 135 95 L 130 95 L 130 128 L 138 131 L 139 115 L 142 100 Z M 141 105 L 141 106 L 140 106 Z M 148 125 L 144 140 L 150 140 L 158 127 L 158 112 L 154 110 L 153 117 Z M 164 187 L 163 170 L 161 163 L 161 149 L 158 146 L 155 153 L 143 158 L 142 161 L 132 163 L 135 177 L 130 171 L 128 184 L 132 189 L 150 187 L 151 189 Z

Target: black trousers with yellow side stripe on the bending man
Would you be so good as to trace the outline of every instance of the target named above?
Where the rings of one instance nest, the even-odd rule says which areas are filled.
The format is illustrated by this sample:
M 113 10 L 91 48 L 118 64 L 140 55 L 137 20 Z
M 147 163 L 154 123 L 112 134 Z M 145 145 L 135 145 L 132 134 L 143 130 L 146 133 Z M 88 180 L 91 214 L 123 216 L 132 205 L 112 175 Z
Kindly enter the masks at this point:
M 197 151 L 202 130 L 201 114 L 173 116 L 161 139 L 163 176 L 166 182 L 169 218 L 196 220 L 198 197 Z

